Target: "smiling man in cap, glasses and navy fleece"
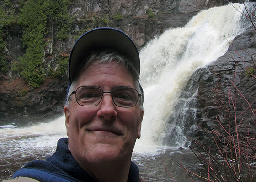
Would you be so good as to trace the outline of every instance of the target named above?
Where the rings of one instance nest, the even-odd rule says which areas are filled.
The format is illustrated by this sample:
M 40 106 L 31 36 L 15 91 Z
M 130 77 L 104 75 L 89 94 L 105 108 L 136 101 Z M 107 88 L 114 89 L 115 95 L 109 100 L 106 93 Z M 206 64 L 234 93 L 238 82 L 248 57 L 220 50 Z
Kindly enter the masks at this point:
M 17 171 L 13 181 L 142 181 L 131 162 L 144 113 L 139 71 L 138 50 L 122 31 L 98 28 L 82 35 L 69 57 L 68 139 L 60 139 L 46 161 Z

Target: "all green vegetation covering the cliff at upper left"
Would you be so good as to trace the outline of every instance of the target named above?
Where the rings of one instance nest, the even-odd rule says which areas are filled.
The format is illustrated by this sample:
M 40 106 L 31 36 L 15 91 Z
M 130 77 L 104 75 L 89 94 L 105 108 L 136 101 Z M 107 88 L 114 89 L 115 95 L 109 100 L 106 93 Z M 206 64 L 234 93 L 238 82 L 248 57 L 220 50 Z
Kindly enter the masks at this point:
M 22 76 L 27 84 L 34 88 L 40 87 L 47 76 L 59 76 L 67 59 L 60 59 L 56 53 L 46 55 L 48 52 L 45 51 L 49 38 L 53 38 L 51 43 L 55 43 L 56 39 L 63 41 L 69 36 L 71 24 L 75 21 L 69 16 L 69 7 L 72 3 L 73 0 L 2 0 L 0 2 L 0 73 L 7 74 L 11 70 L 12 75 Z M 79 17 L 76 24 L 79 28 L 70 36 L 77 39 L 87 30 L 107 26 L 110 19 L 119 21 L 123 17 L 121 14 L 111 13 L 101 16 L 88 11 L 84 17 Z M 21 35 L 24 52 L 16 55 L 19 57 L 15 60 L 6 46 L 10 44 L 10 42 L 6 44 L 7 37 L 12 37 L 11 26 L 22 28 L 22 34 L 15 33 Z M 14 29 L 14 31 L 19 30 Z M 49 68 L 52 67 L 53 62 L 49 62 L 48 57 L 51 57 L 51 61 L 58 62 L 59 68 Z M 54 70 L 53 74 L 50 73 L 52 70 Z

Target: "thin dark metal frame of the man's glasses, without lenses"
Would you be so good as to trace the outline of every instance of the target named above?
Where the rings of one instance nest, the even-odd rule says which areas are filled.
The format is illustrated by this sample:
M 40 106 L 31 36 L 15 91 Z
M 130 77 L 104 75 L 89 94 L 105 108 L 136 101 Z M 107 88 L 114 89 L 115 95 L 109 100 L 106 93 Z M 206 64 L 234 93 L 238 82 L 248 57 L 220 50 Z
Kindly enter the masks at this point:
M 77 103 L 78 105 L 80 105 L 80 106 L 85 106 L 85 105 L 79 104 L 78 101 L 77 101 L 77 97 L 76 97 L 76 92 L 77 92 L 77 90 L 78 90 L 79 88 L 81 88 L 81 87 L 89 87 L 89 88 L 99 88 L 99 89 L 101 89 L 101 91 L 102 91 L 101 100 L 102 100 L 102 98 L 103 98 L 103 94 L 104 94 L 104 93 L 110 93 L 113 103 L 114 103 L 117 107 L 123 107 L 123 108 L 130 108 L 130 107 L 136 106 L 137 103 L 138 103 L 138 101 L 139 101 L 139 97 L 142 96 L 142 95 L 139 93 L 139 91 L 137 91 L 137 89 L 131 88 L 131 87 L 116 87 L 116 88 L 114 88 L 112 91 L 103 91 L 103 89 L 102 89 L 101 87 L 98 87 L 98 86 L 80 86 L 80 87 L 78 87 L 75 91 L 72 91 L 72 92 L 70 93 L 69 97 L 68 97 L 68 100 L 69 100 L 70 97 L 71 97 L 73 94 L 75 94 L 75 101 L 76 101 L 76 103 Z M 122 89 L 125 89 L 125 88 L 133 89 L 133 90 L 135 90 L 135 91 L 137 92 L 137 94 L 138 94 L 138 96 L 137 96 L 137 101 L 136 101 L 136 103 L 134 104 L 134 106 L 118 106 L 118 105 L 116 104 L 116 102 L 115 102 L 114 99 L 113 99 L 113 91 L 115 91 L 115 90 L 117 90 L 117 89 L 120 89 L 120 88 L 122 88 Z M 93 105 L 93 106 L 98 106 L 98 105 L 101 103 L 101 100 L 99 101 L 98 104 Z M 85 106 L 85 107 L 93 107 L 93 106 Z

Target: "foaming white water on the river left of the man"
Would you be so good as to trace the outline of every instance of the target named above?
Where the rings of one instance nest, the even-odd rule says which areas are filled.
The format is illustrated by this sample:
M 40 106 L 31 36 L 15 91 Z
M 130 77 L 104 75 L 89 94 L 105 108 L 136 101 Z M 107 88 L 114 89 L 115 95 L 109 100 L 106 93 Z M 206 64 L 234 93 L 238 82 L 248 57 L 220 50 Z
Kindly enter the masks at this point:
M 4 158 L 6 154 L 19 156 L 21 153 L 25 157 L 38 149 L 44 151 L 52 148 L 49 152 L 54 152 L 58 139 L 66 137 L 64 122 L 64 117 L 60 117 L 51 123 L 29 127 L 0 126 L 3 128 L 0 129 L 0 158 Z

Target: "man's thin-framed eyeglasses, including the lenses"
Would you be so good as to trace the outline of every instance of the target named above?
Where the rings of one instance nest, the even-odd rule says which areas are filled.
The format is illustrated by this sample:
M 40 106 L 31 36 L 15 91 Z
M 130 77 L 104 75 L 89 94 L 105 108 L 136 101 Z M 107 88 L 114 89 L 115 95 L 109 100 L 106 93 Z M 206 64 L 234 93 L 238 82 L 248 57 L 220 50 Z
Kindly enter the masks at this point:
M 97 106 L 103 97 L 104 93 L 110 93 L 114 104 L 118 107 L 133 107 L 136 106 L 141 94 L 134 88 L 117 87 L 113 91 L 103 91 L 96 86 L 80 86 L 73 91 L 76 102 L 81 106 Z

